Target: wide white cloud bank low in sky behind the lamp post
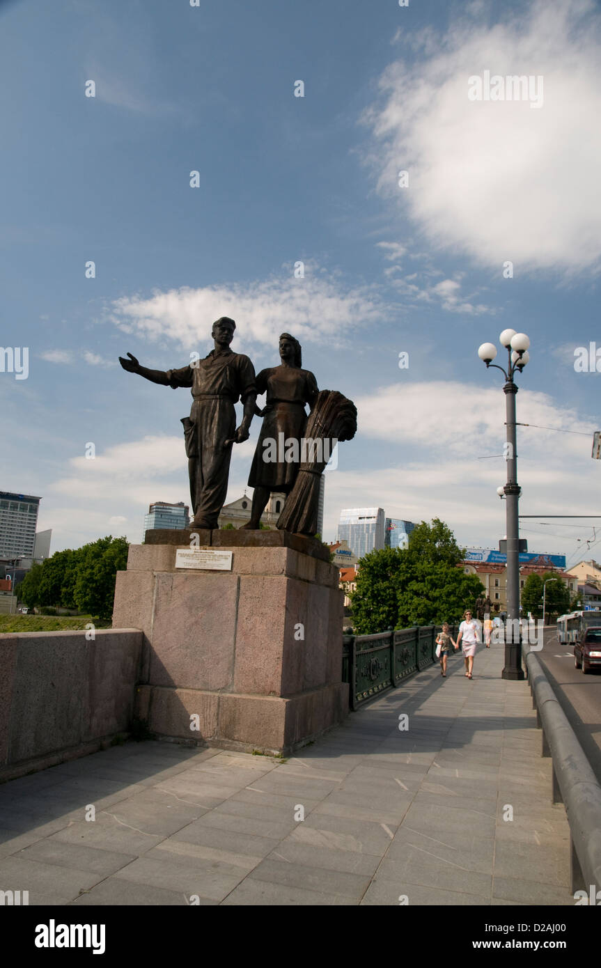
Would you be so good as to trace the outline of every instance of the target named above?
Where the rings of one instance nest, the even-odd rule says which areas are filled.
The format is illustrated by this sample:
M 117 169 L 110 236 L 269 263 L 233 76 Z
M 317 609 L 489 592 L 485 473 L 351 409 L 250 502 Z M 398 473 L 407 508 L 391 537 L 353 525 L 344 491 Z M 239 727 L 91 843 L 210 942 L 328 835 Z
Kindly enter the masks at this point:
M 336 535 L 342 507 L 377 504 L 388 516 L 409 521 L 439 517 L 460 543 L 489 546 L 492 542 L 495 547 L 505 532 L 505 503 L 496 496 L 496 488 L 506 480 L 501 387 L 468 388 L 459 381 L 443 380 L 395 384 L 355 403 L 356 443 L 361 437 L 381 440 L 387 467 L 345 470 L 343 453 L 341 469 L 326 481 L 325 535 Z M 581 437 L 532 426 L 518 428 L 521 512 L 594 513 L 601 474 L 601 462 L 590 458 L 594 418 L 573 408 L 559 408 L 548 394 L 523 388 L 518 420 L 590 433 Z M 353 441 L 344 446 L 350 448 Z M 565 529 L 566 536 L 561 537 L 563 529 L 549 528 L 546 534 L 543 526 L 541 536 L 535 537 L 530 529 L 538 526 L 525 521 L 523 527 L 533 550 L 559 554 L 572 553 L 574 534 L 584 533 Z

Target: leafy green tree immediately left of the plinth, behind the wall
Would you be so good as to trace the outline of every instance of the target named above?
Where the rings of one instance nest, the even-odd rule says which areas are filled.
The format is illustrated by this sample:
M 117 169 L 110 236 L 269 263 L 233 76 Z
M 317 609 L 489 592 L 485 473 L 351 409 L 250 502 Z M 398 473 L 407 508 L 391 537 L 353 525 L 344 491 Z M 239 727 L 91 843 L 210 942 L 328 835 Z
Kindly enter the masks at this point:
M 111 619 L 117 571 L 127 568 L 128 549 L 127 538 L 111 535 L 80 549 L 74 598 L 81 612 L 101 621 Z

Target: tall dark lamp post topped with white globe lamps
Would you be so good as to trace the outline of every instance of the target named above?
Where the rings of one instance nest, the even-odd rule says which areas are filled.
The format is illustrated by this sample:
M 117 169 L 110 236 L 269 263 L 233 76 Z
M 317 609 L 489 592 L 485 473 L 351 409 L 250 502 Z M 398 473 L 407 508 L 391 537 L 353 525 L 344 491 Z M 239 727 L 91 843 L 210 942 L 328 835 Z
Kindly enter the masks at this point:
M 493 343 L 483 343 L 478 356 L 486 363 L 487 369 L 493 366 L 505 378 L 505 427 L 507 431 L 505 460 L 507 462 L 507 483 L 502 491 L 506 499 L 507 520 L 507 626 L 505 630 L 505 666 L 501 673 L 503 679 L 522 680 L 522 632 L 520 627 L 520 529 L 518 501 L 518 462 L 516 446 L 516 394 L 518 387 L 514 381 L 516 370 L 522 373 L 529 360 L 527 348 L 530 341 L 526 333 L 516 333 L 515 329 L 504 329 L 499 336 L 501 346 L 507 349 L 507 370 L 493 363 L 496 347 Z

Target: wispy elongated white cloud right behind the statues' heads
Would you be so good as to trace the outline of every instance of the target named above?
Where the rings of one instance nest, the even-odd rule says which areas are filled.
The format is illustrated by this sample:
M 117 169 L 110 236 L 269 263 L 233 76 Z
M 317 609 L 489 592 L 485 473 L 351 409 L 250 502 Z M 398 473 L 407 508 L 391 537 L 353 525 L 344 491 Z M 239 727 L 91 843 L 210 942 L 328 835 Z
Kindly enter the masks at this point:
M 237 345 L 272 347 L 283 330 L 301 341 L 340 344 L 347 331 L 389 317 L 376 287 L 345 288 L 307 262 L 304 279 L 291 267 L 282 276 L 249 283 L 155 291 L 150 298 L 123 297 L 112 304 L 111 318 L 124 332 L 150 340 L 167 337 L 194 349 L 210 339 L 221 316 L 236 320 Z M 240 341 L 240 343 L 238 343 Z

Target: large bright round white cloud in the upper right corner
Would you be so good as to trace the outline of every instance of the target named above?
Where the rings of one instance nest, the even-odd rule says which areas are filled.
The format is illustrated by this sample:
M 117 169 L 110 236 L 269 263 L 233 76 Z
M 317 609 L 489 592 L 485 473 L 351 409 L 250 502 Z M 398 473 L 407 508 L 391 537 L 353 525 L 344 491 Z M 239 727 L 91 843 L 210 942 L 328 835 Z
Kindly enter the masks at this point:
M 424 35 L 425 52 L 384 72 L 366 115 L 380 191 L 396 195 L 434 245 L 499 277 L 506 259 L 516 272 L 597 269 L 600 32 L 589 0 L 537 0 L 490 27 L 455 21 L 437 46 Z M 486 70 L 543 76 L 544 105 L 470 102 L 468 77 Z

